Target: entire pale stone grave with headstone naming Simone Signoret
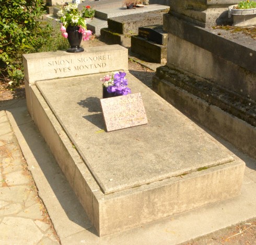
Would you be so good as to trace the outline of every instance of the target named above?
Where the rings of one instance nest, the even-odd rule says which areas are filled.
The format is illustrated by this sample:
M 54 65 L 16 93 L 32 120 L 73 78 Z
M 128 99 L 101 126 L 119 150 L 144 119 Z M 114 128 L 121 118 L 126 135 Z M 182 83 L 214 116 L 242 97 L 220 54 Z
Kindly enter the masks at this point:
M 122 47 L 102 49 L 95 53 L 123 54 L 107 60 L 107 68 L 127 63 Z M 108 71 L 57 77 L 48 66 L 51 52 L 38 55 L 24 56 L 29 111 L 92 232 L 108 235 L 240 194 L 245 163 L 134 76 L 126 72 L 132 93 L 141 93 L 148 123 L 106 132 L 100 78 Z M 69 55 L 63 52 L 55 61 Z M 38 80 L 35 67 L 51 78 Z

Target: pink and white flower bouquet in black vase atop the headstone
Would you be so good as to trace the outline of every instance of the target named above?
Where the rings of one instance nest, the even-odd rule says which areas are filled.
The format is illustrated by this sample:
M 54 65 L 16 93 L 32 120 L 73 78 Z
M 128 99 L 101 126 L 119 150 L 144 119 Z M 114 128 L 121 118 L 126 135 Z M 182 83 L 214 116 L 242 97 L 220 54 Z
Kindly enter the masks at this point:
M 61 20 L 61 33 L 64 38 L 68 39 L 71 49 L 67 52 L 82 52 L 80 43 L 83 40 L 89 40 L 92 32 L 87 30 L 86 21 L 78 10 L 77 4 L 67 4 L 57 13 Z

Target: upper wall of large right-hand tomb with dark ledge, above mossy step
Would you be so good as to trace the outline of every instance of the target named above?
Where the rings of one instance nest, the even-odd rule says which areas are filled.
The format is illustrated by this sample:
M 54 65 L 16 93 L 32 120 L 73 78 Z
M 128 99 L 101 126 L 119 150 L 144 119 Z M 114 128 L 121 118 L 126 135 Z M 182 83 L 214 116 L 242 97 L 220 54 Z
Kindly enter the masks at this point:
M 196 27 L 170 15 L 164 22 L 169 32 L 167 65 L 214 81 L 243 97 L 256 98 L 256 40 L 227 38 L 218 35 L 219 30 Z

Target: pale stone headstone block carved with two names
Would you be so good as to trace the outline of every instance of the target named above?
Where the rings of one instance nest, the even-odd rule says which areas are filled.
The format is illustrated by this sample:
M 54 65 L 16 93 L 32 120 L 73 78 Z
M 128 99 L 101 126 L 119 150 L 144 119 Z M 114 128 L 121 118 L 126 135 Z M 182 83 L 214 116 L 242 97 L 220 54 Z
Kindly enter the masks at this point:
M 127 59 L 127 50 L 117 45 L 98 46 L 97 49 L 92 47 L 82 53 L 68 53 L 68 55 L 65 51 L 24 54 L 24 74 L 28 83 L 32 84 L 42 79 L 102 73 L 117 69 L 127 71 Z

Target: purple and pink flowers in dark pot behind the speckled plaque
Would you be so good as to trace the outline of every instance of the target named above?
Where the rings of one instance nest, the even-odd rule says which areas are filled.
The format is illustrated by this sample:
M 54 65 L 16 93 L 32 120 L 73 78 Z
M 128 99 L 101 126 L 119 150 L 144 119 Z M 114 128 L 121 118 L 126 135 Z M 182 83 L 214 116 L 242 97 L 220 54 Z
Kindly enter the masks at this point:
M 131 89 L 127 87 L 127 79 L 125 72 L 113 72 L 106 75 L 100 80 L 103 86 L 103 98 L 110 98 L 131 93 Z

